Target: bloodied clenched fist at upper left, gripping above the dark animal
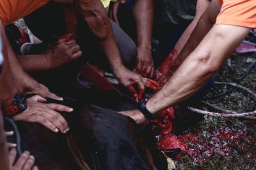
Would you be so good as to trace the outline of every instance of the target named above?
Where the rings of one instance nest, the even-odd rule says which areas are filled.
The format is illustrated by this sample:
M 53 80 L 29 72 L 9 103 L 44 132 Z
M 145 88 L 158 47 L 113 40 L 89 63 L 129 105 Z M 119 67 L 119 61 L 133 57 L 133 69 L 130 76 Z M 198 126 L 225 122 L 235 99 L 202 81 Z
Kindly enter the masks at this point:
M 49 64 L 49 69 L 53 69 L 81 57 L 82 52 L 72 35 L 65 34 L 47 48 L 44 56 Z

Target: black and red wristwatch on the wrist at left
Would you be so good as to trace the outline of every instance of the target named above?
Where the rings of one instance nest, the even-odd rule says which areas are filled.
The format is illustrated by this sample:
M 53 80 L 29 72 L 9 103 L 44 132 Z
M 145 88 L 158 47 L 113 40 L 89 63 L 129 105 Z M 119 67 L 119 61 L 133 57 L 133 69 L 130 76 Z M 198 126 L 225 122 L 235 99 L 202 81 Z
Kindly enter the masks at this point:
M 12 104 L 4 109 L 4 115 L 13 117 L 26 110 L 27 107 L 26 97 L 23 94 L 15 94 Z

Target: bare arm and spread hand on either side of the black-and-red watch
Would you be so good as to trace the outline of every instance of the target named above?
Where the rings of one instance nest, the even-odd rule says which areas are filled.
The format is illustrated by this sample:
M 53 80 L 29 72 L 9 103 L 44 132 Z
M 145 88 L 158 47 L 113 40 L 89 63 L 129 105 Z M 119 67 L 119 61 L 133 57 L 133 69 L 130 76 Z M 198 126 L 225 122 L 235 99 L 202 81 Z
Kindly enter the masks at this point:
M 13 101 L 13 97 L 17 94 L 19 89 L 15 86 L 15 78 L 10 70 L 8 62 L 8 40 L 3 30 L 1 31 L 3 38 L 3 72 L 0 78 L 1 83 L 1 106 L 6 108 L 10 106 Z M 72 112 L 72 108 L 63 106 L 60 104 L 45 104 L 46 99 L 40 96 L 33 96 L 28 99 L 28 108 L 13 117 L 14 120 L 23 120 L 26 122 L 37 122 L 45 125 L 45 127 L 51 129 L 54 132 L 65 133 L 69 130 L 67 121 L 58 113 L 58 111 Z

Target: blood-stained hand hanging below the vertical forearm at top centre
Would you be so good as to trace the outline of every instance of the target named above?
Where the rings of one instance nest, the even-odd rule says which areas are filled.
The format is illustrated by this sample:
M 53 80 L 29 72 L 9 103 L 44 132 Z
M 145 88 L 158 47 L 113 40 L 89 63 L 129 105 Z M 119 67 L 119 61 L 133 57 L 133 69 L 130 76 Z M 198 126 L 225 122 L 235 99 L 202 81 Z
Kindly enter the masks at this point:
M 152 78 L 154 76 L 155 68 L 150 50 L 138 49 L 136 73 L 145 78 Z

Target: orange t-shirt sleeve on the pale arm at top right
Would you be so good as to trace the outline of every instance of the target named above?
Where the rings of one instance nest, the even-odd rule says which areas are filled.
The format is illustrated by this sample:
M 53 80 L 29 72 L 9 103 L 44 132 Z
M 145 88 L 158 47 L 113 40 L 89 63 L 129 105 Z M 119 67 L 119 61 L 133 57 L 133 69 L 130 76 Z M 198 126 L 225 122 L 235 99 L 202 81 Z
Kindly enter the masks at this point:
M 256 28 L 255 0 L 218 0 L 221 5 L 216 24 Z

